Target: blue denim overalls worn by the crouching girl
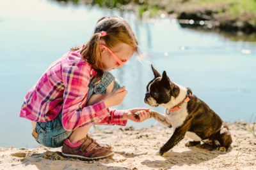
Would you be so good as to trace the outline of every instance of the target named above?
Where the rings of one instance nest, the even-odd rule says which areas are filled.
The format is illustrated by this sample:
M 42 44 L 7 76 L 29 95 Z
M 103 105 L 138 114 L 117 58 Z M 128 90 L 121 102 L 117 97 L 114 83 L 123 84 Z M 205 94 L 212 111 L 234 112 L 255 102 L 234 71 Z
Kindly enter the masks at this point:
M 115 79 L 115 77 L 108 71 L 104 71 L 100 83 L 97 84 L 96 79 L 97 77 L 95 76 L 89 83 L 87 101 L 93 94 L 106 94 L 106 88 L 113 80 L 115 80 L 113 90 L 119 89 L 121 87 L 120 82 Z M 66 131 L 62 125 L 61 110 L 58 116 L 51 121 L 37 122 L 35 131 L 33 131 L 32 136 L 41 145 L 50 148 L 57 148 L 63 145 L 63 141 L 67 139 L 71 133 L 72 131 Z

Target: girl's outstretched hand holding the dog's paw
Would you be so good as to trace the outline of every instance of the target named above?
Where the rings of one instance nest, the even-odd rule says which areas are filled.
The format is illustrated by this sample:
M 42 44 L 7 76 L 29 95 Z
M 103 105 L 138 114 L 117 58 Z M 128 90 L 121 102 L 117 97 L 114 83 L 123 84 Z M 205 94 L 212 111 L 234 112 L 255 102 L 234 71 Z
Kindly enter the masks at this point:
M 140 111 L 139 118 L 134 117 L 134 113 Z M 147 108 L 133 108 L 131 110 L 125 110 L 124 111 L 124 119 L 132 120 L 133 122 L 143 122 L 150 118 L 150 113 L 148 112 L 149 109 Z

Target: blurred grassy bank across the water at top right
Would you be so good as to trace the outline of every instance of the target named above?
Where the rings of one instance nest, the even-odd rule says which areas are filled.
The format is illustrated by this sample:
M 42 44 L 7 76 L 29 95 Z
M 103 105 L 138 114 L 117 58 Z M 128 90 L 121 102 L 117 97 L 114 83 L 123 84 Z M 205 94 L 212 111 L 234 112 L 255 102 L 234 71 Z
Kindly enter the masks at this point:
M 131 10 L 138 13 L 141 18 L 177 18 L 181 25 L 203 29 L 248 34 L 256 32 L 255 0 L 73 0 L 73 3 Z

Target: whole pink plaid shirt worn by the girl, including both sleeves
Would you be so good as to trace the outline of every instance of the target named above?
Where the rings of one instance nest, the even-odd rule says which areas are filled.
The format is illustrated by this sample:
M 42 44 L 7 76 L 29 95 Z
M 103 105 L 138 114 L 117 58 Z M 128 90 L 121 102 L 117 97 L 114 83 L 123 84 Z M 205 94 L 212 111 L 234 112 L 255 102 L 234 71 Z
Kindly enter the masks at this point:
M 108 110 L 103 101 L 85 107 L 88 85 L 95 74 L 80 50 L 65 53 L 26 94 L 19 117 L 48 122 L 62 108 L 62 124 L 67 131 L 90 124 L 126 125 L 124 111 Z

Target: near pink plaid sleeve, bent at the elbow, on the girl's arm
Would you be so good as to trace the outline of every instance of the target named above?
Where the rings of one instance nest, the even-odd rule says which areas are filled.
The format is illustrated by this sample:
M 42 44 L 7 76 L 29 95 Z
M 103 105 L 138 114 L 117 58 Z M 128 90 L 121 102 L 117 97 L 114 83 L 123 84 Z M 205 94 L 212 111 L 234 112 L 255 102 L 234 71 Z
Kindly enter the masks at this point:
M 73 131 L 84 125 L 99 124 L 105 117 L 111 116 L 103 101 L 84 107 L 88 95 L 90 69 L 86 63 L 63 64 L 62 123 L 66 131 Z

